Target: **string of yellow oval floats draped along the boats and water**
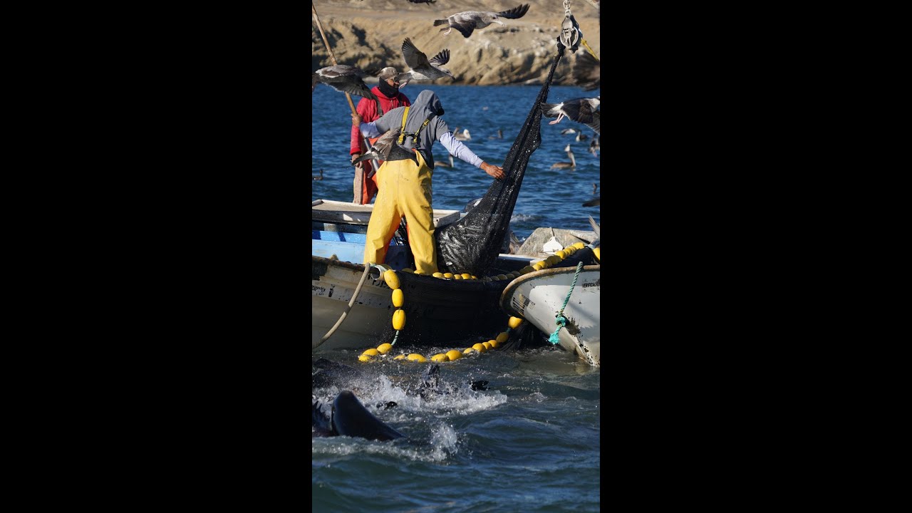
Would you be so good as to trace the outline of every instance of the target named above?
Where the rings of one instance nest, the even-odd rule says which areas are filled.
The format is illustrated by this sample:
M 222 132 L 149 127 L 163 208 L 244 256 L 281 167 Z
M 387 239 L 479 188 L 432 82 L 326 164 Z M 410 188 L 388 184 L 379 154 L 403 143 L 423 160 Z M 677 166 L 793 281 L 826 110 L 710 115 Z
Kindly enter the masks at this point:
M 499 281 L 502 279 L 513 280 L 516 277 L 523 276 L 524 274 L 528 274 L 533 271 L 538 271 L 541 269 L 546 269 L 548 267 L 553 267 L 557 263 L 564 260 L 566 257 L 573 255 L 576 251 L 583 249 L 584 247 L 586 247 L 585 244 L 583 244 L 582 242 L 577 242 L 570 246 L 566 246 L 564 249 L 561 249 L 560 251 L 554 252 L 554 255 L 552 255 L 551 257 L 547 257 L 547 258 L 544 258 L 544 260 L 535 262 L 531 266 L 523 267 L 522 269 L 520 269 L 518 271 L 513 271 L 513 272 L 505 274 L 505 275 L 500 274 L 500 275 L 497 275 L 496 277 L 482 277 L 482 281 Z M 592 247 L 592 245 L 589 245 L 589 247 Z M 599 248 L 594 247 L 592 249 L 593 249 L 593 253 L 596 255 L 596 259 L 598 259 L 598 261 L 601 262 L 601 258 L 599 258 Z M 410 268 L 402 269 L 402 272 L 419 274 L 419 275 L 421 274 L 419 272 L 416 272 L 414 269 L 410 269 Z M 437 273 L 434 273 L 432 276 L 438 277 L 441 279 L 478 279 L 478 277 L 473 276 L 469 273 L 454 274 L 454 273 L 437 272 Z M 374 360 L 375 357 L 385 358 L 387 353 L 389 353 L 389 351 L 392 351 L 393 346 L 396 344 L 396 340 L 399 340 L 399 330 L 402 330 L 403 328 L 405 328 L 405 310 L 402 309 L 402 306 L 405 304 L 405 295 L 402 293 L 402 289 L 399 288 L 399 276 L 396 274 L 395 270 L 388 269 L 388 270 L 384 271 L 383 279 L 386 281 L 387 286 L 389 286 L 389 288 L 392 288 L 392 291 L 393 291 L 392 292 L 392 301 L 393 301 L 393 306 L 396 307 L 396 310 L 393 311 L 392 322 L 393 322 L 393 330 L 396 330 L 396 334 L 393 336 L 392 343 L 383 343 L 383 344 L 378 345 L 376 349 L 371 348 L 371 349 L 368 349 L 367 351 L 364 351 L 363 353 L 361 353 L 360 356 L 358 356 L 358 361 L 365 361 L 365 362 L 372 361 L 372 360 Z M 507 329 L 505 331 L 501 331 L 497 335 L 496 338 L 488 340 L 486 342 L 479 342 L 477 344 L 472 345 L 471 348 L 465 348 L 462 351 L 453 349 L 450 351 L 437 353 L 430 357 L 430 361 L 436 361 L 436 362 L 457 361 L 460 358 L 462 358 L 463 356 L 472 354 L 472 352 L 484 352 L 484 351 L 489 351 L 492 349 L 497 349 L 501 344 L 503 344 L 503 342 L 507 341 L 507 339 L 510 337 L 510 331 L 519 327 L 519 325 L 522 322 L 523 322 L 523 319 L 520 319 L 518 317 L 511 317 L 507 321 Z M 393 360 L 418 361 L 419 363 L 424 363 L 424 362 L 428 361 L 427 358 L 425 358 L 423 355 L 416 353 L 416 352 L 409 353 L 409 354 L 406 354 L 404 352 L 400 353 L 399 355 L 394 357 Z

